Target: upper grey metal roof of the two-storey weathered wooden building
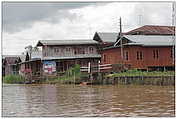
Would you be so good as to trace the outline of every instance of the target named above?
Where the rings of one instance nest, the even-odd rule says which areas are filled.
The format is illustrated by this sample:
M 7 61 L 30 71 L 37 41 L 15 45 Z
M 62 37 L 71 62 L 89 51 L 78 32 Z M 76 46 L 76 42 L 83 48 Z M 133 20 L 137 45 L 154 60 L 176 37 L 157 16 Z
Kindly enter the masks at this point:
M 98 42 L 90 39 L 84 40 L 40 40 L 37 46 L 40 46 L 40 43 L 43 45 L 84 45 L 84 44 L 98 44 Z

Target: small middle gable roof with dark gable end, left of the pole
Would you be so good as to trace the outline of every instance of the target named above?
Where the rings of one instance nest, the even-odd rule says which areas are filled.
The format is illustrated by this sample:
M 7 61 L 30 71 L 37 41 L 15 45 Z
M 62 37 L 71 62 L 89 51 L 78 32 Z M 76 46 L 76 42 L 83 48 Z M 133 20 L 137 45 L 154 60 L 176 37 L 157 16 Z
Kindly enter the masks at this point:
M 93 40 L 98 42 L 107 42 L 107 43 L 114 43 L 118 37 L 118 33 L 116 32 L 96 32 Z

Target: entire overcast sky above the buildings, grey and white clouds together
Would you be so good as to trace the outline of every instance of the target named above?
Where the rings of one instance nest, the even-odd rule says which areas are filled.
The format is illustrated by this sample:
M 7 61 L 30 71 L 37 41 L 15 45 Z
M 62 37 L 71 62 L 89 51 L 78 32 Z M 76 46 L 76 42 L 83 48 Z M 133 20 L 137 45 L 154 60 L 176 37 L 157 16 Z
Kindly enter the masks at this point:
M 2 5 L 3 55 L 17 55 L 38 40 L 92 39 L 143 25 L 172 25 L 170 2 L 67 2 Z

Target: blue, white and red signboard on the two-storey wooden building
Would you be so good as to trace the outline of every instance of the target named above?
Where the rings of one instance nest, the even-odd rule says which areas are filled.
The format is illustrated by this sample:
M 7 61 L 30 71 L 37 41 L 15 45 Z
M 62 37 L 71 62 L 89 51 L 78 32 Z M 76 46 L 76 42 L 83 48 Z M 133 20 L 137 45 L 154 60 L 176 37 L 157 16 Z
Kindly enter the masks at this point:
M 46 74 L 52 74 L 56 72 L 56 62 L 55 61 L 44 61 L 43 70 Z

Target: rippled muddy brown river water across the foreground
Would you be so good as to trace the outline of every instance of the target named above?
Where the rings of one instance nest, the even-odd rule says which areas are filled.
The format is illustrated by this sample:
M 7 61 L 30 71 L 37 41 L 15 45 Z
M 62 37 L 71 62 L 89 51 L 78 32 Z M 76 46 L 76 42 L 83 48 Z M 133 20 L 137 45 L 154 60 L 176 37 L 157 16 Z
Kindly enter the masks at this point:
M 3 84 L 2 116 L 174 117 L 173 86 Z

